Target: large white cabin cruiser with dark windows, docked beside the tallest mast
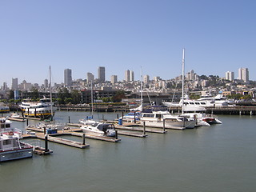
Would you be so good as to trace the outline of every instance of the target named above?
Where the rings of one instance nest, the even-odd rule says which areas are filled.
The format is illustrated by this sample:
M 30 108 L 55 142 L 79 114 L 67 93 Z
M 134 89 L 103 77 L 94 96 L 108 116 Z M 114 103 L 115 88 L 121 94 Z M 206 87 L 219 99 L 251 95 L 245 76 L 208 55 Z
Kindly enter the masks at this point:
M 170 114 L 166 106 L 151 106 L 151 110 L 142 111 L 141 124 L 143 126 L 185 130 L 194 128 L 196 120 L 182 115 Z

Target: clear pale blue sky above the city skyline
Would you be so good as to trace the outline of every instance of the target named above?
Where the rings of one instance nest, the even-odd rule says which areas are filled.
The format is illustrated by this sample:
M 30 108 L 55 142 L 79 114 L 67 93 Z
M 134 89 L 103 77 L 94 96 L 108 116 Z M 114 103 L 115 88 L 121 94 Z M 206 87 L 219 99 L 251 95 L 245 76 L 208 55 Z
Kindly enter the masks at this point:
M 41 85 L 49 78 L 98 77 L 98 66 L 124 79 L 186 72 L 225 76 L 246 67 L 256 80 L 254 0 L 1 0 L 0 86 L 11 78 Z

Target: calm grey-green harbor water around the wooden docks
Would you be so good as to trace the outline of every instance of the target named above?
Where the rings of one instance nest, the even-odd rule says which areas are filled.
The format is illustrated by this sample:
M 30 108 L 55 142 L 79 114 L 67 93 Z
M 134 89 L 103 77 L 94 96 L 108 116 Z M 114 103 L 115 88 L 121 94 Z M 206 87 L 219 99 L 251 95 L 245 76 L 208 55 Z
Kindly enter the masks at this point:
M 57 111 L 54 118 L 77 123 L 88 115 Z M 99 113 L 94 118 L 113 120 L 117 114 Z M 221 125 L 167 130 L 146 138 L 120 135 L 122 141 L 117 143 L 86 138 L 90 144 L 86 149 L 49 142 L 53 154 L 1 162 L 0 188 L 8 192 L 254 192 L 256 117 L 218 118 Z M 25 130 L 26 122 L 12 126 Z M 82 142 L 74 136 L 62 138 Z M 44 145 L 38 139 L 24 142 Z

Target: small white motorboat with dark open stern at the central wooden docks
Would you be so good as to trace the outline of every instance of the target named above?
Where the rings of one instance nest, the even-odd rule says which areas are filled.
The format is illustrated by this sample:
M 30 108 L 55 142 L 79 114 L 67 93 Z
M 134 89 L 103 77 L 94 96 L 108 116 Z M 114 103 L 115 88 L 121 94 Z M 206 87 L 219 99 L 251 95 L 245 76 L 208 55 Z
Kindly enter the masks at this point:
M 105 122 L 95 122 L 92 125 L 84 125 L 81 127 L 86 134 L 95 136 L 115 137 L 114 124 Z

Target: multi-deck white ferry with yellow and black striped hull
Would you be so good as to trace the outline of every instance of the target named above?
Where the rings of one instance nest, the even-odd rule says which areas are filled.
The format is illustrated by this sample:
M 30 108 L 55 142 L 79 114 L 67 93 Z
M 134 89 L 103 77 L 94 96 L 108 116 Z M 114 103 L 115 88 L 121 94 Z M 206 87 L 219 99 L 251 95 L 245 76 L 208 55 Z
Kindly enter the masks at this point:
M 20 105 L 22 115 L 28 118 L 52 118 L 57 108 L 54 106 L 54 102 L 50 101 L 50 98 L 41 98 L 39 102 L 24 99 Z

